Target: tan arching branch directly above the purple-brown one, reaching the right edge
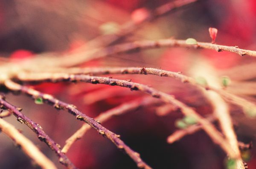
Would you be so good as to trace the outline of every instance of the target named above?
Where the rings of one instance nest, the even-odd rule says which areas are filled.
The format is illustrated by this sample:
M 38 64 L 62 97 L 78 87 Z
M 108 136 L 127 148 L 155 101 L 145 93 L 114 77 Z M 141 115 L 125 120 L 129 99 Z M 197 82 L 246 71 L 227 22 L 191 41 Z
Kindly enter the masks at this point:
M 160 70 L 155 68 L 57 68 L 56 71 L 64 72 L 64 73 L 19 73 L 17 74 L 17 78 L 21 81 L 52 81 L 54 82 L 56 78 L 69 76 L 67 73 L 71 74 L 90 74 L 90 75 L 103 75 L 103 74 L 151 74 L 157 76 L 166 76 L 180 80 L 181 82 L 188 82 L 195 87 L 199 87 L 200 90 L 207 89 L 213 90 L 216 93 L 220 94 L 227 101 L 236 104 L 244 109 L 244 112 L 248 112 L 251 110 L 256 110 L 256 105 L 243 99 L 239 96 L 228 93 L 225 90 L 217 89 L 210 85 L 200 85 L 195 79 L 185 76 L 181 73 Z

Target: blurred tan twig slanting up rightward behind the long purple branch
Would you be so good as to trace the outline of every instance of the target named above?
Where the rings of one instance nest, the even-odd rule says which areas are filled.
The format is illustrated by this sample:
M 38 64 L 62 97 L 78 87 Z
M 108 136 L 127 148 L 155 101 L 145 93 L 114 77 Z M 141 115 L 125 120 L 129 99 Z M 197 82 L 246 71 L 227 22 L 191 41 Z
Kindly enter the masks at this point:
M 114 107 L 113 109 L 110 109 L 101 113 L 95 118 L 95 120 L 100 121 L 100 123 L 103 123 L 115 115 L 122 115 L 127 113 L 128 111 L 135 110 L 139 107 L 151 105 L 154 102 L 157 102 L 157 101 L 149 98 L 130 101 L 128 103 L 121 104 L 117 107 Z M 61 152 L 67 153 L 67 151 L 70 149 L 70 146 L 75 141 L 80 139 L 90 128 L 91 127 L 88 124 L 83 124 L 79 130 L 77 130 L 72 136 L 70 136 L 70 138 L 67 139 L 66 144 L 63 146 L 63 149 L 61 150 Z

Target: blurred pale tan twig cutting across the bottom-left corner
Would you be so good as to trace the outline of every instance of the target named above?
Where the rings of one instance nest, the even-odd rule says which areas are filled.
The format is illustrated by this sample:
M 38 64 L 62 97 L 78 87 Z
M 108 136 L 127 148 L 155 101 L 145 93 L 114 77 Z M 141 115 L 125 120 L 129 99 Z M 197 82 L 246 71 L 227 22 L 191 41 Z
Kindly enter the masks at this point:
M 29 156 L 35 163 L 42 169 L 57 169 L 57 167 L 49 160 L 35 144 L 28 138 L 22 135 L 12 124 L 4 121 L 0 118 L 0 131 L 5 133 L 11 138 L 17 145 L 21 147 L 23 152 Z

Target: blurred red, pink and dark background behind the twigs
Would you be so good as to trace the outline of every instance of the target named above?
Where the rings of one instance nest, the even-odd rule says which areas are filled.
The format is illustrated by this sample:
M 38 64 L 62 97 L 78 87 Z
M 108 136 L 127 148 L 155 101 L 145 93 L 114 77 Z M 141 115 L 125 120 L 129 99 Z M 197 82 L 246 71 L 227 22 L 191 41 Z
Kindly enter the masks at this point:
M 113 34 L 122 24 L 134 21 L 147 11 L 172 0 L 0 0 L 0 55 L 10 59 L 40 57 L 51 52 L 61 57 L 76 52 L 96 37 Z M 115 42 L 132 42 L 145 39 L 195 38 L 211 42 L 208 28 L 218 29 L 216 43 L 256 50 L 255 0 L 198 0 L 178 8 L 163 17 L 143 23 L 140 28 Z M 102 46 L 102 44 L 98 44 Z M 181 71 L 190 75 L 198 59 L 207 60 L 215 73 L 229 76 L 227 90 L 250 101 L 256 96 L 256 59 L 228 52 L 194 50 L 186 48 L 158 48 L 125 54 L 116 54 L 84 63 L 84 67 L 135 66 Z M 212 107 L 202 94 L 188 84 L 175 79 L 144 75 L 114 75 L 116 79 L 132 79 L 161 91 L 194 107 L 201 115 L 212 113 Z M 119 104 L 145 97 L 145 94 L 125 88 L 71 83 L 44 83 L 35 88 L 75 104 L 91 117 Z M 72 115 L 48 105 L 37 105 L 26 96 L 7 95 L 7 101 L 22 107 L 23 113 L 40 124 L 44 131 L 61 146 L 83 124 Z M 160 103 L 141 107 L 125 115 L 116 116 L 103 123 L 109 130 L 120 134 L 132 149 L 140 152 L 143 160 L 155 169 L 224 169 L 225 153 L 204 131 L 188 135 L 174 144 L 166 138 L 177 130 L 175 121 L 180 112 L 158 115 Z M 230 104 L 239 141 L 249 143 L 256 138 L 256 120 L 244 116 L 241 108 Z M 5 118 L 23 131 L 58 168 L 58 158 L 25 125 L 15 117 Z M 0 169 L 37 168 L 23 152 L 0 134 Z M 256 149 L 242 152 L 250 169 L 256 169 Z M 95 130 L 87 132 L 67 153 L 70 160 L 81 169 L 133 169 L 136 164 Z

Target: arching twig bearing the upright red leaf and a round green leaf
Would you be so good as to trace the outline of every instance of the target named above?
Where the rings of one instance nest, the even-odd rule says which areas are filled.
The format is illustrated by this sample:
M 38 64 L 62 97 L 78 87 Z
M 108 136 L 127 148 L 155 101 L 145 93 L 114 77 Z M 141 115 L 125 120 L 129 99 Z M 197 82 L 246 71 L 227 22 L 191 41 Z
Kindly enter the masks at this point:
M 159 39 L 159 40 L 145 40 L 145 41 L 135 41 L 128 42 L 120 45 L 115 45 L 107 48 L 95 49 L 93 51 L 87 51 L 84 53 L 79 53 L 74 56 L 64 56 L 59 60 L 57 59 L 57 65 L 55 66 L 64 66 L 71 67 L 74 65 L 79 65 L 83 62 L 89 61 L 91 59 L 97 59 L 105 56 L 110 56 L 113 54 L 121 54 L 127 51 L 133 50 L 142 50 L 149 48 L 162 48 L 162 47 L 183 47 L 183 48 L 203 48 L 215 50 L 217 52 L 221 51 L 229 51 L 235 54 L 239 54 L 241 56 L 248 55 L 256 57 L 256 51 L 250 51 L 245 49 L 240 49 L 237 46 L 225 46 L 225 45 L 217 45 L 207 42 L 197 42 L 196 44 L 187 44 L 186 40 L 178 40 L 178 39 Z M 50 59 L 50 58 L 48 58 Z M 55 62 L 54 60 L 52 62 Z M 55 64 L 55 63 L 54 63 Z

